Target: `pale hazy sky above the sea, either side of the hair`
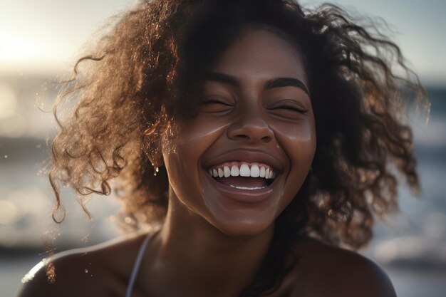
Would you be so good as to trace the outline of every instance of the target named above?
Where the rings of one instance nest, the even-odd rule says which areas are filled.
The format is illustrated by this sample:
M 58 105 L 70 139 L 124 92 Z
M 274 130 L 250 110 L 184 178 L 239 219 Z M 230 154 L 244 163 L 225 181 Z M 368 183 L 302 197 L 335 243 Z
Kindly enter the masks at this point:
M 55 73 L 71 68 L 80 48 L 109 16 L 136 0 L 0 0 L 0 74 Z M 304 5 L 321 4 L 301 0 Z M 385 19 L 415 71 L 428 85 L 446 86 L 446 1 L 334 0 Z

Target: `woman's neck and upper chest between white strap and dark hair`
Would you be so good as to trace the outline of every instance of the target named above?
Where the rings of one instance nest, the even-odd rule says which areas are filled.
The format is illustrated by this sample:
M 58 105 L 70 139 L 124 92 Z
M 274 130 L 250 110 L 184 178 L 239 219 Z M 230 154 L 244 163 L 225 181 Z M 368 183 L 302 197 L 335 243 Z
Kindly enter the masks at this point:
M 177 296 L 237 296 L 254 279 L 273 231 L 271 225 L 261 234 L 235 238 L 171 199 L 157 236 L 154 272 L 163 271 L 175 283 Z

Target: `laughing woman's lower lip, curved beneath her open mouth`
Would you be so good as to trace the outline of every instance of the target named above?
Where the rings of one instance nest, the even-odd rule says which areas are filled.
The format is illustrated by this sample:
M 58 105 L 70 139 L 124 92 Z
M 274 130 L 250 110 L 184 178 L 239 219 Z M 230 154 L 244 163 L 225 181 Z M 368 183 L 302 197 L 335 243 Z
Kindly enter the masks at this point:
M 205 179 L 209 181 L 212 187 L 217 188 L 219 192 L 221 192 L 224 197 L 227 197 L 230 200 L 234 200 L 236 202 L 242 203 L 260 203 L 267 200 L 271 197 L 271 193 L 274 191 L 274 187 L 278 178 L 274 179 L 268 187 L 264 189 L 237 189 L 234 187 L 227 186 L 226 184 L 222 184 L 221 182 L 217 182 L 214 177 L 207 174 L 207 172 L 203 172 L 202 174 Z

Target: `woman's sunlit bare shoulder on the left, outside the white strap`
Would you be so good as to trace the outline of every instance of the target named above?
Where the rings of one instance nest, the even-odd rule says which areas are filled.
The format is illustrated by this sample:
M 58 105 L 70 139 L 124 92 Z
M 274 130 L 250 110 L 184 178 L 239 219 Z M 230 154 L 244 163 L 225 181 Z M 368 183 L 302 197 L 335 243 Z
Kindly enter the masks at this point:
M 26 274 L 19 297 L 124 296 L 144 238 L 126 236 L 43 259 Z

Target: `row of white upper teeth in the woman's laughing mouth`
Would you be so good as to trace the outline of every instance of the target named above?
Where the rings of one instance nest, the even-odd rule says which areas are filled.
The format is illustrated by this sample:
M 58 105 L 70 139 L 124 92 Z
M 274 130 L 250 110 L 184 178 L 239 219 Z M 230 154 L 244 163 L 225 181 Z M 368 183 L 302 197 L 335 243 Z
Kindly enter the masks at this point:
M 257 164 L 234 164 L 219 165 L 209 169 L 209 174 L 213 177 L 264 177 L 271 179 L 276 177 L 276 173 L 267 165 Z

